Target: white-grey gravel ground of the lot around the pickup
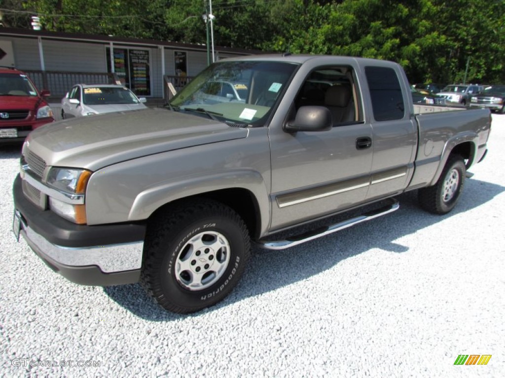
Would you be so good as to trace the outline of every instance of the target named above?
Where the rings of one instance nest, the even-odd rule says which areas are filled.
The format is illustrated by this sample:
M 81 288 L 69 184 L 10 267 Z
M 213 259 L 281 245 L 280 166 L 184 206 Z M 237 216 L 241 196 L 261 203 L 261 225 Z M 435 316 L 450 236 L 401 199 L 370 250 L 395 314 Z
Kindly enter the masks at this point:
M 493 114 L 490 152 L 452 213 L 406 194 L 377 220 L 255 250 L 232 294 L 190 316 L 137 284 L 68 282 L 17 243 L 19 146 L 0 147 L 0 375 L 501 377 L 503 145 L 505 115 Z M 492 357 L 455 366 L 459 354 Z

